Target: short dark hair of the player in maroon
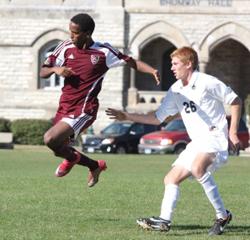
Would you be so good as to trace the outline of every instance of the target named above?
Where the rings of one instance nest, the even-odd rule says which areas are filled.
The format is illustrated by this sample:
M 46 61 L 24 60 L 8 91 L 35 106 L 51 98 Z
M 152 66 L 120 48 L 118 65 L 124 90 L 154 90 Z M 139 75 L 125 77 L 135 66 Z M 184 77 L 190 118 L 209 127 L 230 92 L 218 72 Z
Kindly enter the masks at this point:
M 78 24 L 82 32 L 93 33 L 95 29 L 95 22 L 87 13 L 79 13 L 70 19 L 71 22 Z

